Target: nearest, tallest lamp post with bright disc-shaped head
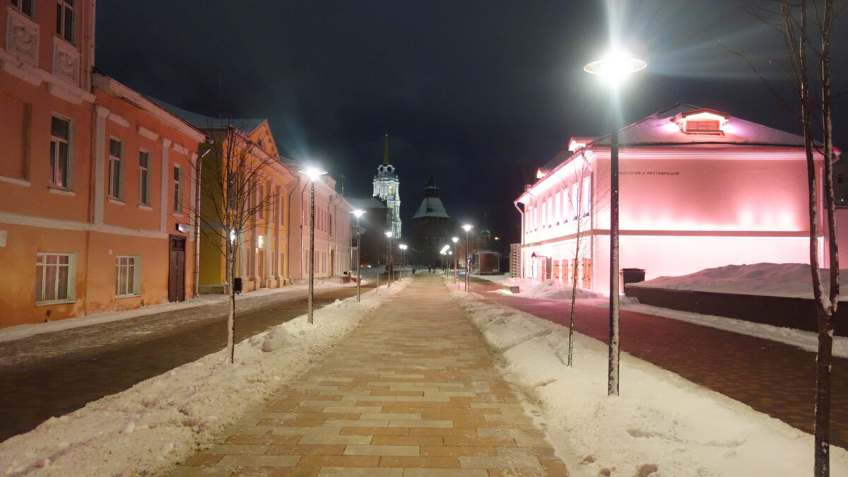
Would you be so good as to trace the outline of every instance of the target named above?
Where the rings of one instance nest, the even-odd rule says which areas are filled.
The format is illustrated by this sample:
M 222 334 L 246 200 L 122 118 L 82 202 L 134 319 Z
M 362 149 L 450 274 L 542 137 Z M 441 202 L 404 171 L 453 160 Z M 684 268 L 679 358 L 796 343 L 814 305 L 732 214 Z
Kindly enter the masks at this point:
M 610 356 L 607 396 L 618 396 L 618 85 L 648 64 L 623 53 L 611 53 L 583 67 L 610 85 Z

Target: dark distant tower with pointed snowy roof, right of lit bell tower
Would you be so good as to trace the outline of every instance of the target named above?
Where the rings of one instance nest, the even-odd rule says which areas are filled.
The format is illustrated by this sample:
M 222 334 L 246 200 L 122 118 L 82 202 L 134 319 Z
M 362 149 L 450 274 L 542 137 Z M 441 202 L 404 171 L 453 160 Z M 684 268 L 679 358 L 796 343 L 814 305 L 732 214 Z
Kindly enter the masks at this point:
M 447 245 L 453 250 L 450 240 L 454 235 L 454 221 L 445 210 L 442 199 L 438 198 L 438 187 L 430 177 L 424 188 L 424 199 L 412 217 L 412 248 L 410 261 L 420 265 L 439 263 L 443 256 L 440 252 Z

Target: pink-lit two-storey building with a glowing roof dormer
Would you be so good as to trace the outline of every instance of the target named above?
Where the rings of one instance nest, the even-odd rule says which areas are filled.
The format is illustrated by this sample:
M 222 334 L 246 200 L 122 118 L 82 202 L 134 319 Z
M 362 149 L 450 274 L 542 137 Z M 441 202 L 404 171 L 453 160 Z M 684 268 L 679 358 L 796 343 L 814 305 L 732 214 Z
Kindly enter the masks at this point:
M 622 268 L 644 269 L 650 279 L 809 262 L 803 137 L 684 103 L 619 136 Z M 819 177 L 822 167 L 817 154 Z M 516 199 L 525 278 L 566 282 L 577 273 L 578 286 L 609 291 L 609 177 L 609 136 L 572 138 L 539 169 Z M 823 240 L 823 230 L 817 236 Z

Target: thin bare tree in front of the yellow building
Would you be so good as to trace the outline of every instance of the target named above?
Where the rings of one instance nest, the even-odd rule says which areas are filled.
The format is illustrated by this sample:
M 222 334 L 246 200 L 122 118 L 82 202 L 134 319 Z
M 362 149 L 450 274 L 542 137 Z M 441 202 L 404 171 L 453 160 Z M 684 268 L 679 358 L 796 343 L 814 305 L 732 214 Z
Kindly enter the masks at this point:
M 243 130 L 232 124 L 210 127 L 212 149 L 197 165 L 195 177 L 199 183 L 199 210 L 192 216 L 199 221 L 201 233 L 224 257 L 226 291 L 229 295 L 227 315 L 226 362 L 235 360 L 236 274 L 238 250 L 245 240 L 255 217 L 264 214 L 281 191 L 268 184 L 268 169 L 279 162 L 253 143 Z M 282 166 L 282 165 L 281 165 Z

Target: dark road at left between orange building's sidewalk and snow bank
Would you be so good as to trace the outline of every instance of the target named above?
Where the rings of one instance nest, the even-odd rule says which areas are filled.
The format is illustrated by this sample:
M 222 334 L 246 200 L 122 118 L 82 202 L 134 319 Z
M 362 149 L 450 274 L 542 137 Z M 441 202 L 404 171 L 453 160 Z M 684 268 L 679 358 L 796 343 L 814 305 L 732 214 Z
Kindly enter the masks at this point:
M 361 287 L 362 293 L 373 286 Z M 315 308 L 356 294 L 315 289 Z M 236 342 L 306 312 L 305 293 L 237 301 Z M 0 441 L 220 351 L 226 302 L 0 343 Z

